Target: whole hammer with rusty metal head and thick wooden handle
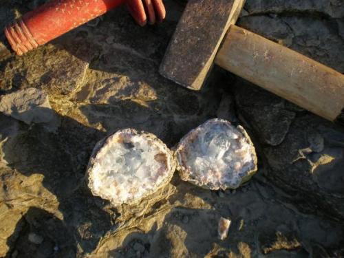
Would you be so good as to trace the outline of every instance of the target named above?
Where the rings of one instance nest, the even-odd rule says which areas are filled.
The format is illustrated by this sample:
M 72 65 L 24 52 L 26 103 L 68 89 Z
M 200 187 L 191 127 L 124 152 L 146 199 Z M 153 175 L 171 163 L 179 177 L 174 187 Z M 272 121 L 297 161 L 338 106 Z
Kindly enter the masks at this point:
M 199 90 L 213 63 L 312 111 L 343 119 L 344 75 L 234 25 L 245 0 L 189 0 L 160 74 Z

